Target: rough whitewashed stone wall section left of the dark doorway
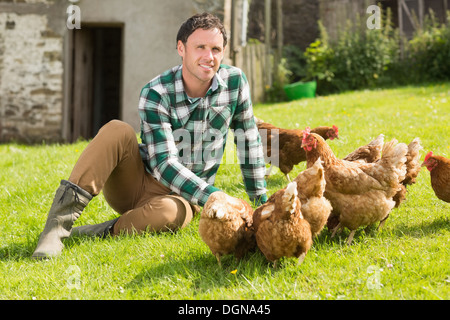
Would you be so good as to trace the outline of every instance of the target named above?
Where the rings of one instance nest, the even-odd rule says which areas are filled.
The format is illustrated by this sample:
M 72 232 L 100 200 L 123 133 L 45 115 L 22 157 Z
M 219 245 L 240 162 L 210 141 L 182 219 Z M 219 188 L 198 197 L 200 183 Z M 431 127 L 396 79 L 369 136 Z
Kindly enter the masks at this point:
M 61 140 L 63 2 L 0 1 L 0 142 Z

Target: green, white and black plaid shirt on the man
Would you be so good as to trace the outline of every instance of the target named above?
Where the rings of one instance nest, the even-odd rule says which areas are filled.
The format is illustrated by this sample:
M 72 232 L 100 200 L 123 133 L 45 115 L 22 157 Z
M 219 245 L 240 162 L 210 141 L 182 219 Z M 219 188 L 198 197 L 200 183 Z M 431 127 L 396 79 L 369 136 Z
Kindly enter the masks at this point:
M 214 180 L 231 128 L 246 192 L 267 201 L 261 138 L 240 69 L 221 65 L 205 97 L 196 99 L 184 91 L 182 66 L 167 70 L 142 89 L 139 114 L 145 167 L 174 193 L 203 206 L 219 190 Z

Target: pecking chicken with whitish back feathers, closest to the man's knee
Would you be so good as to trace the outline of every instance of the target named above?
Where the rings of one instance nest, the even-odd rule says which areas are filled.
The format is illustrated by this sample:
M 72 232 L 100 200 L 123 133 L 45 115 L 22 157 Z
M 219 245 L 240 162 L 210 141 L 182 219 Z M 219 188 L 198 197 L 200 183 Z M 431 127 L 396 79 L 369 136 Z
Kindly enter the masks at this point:
M 203 207 L 198 231 L 221 266 L 222 255 L 234 254 L 239 260 L 256 247 L 252 223 L 253 209 L 247 202 L 216 191 Z

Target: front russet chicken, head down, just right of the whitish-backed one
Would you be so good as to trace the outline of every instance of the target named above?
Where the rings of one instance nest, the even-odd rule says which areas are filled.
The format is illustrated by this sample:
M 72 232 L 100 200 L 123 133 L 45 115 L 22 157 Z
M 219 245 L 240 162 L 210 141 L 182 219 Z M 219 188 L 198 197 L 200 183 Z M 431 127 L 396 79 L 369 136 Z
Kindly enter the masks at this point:
M 312 245 L 311 227 L 301 212 L 297 183 L 275 192 L 255 210 L 256 243 L 276 267 L 281 257 L 296 257 L 302 263 Z

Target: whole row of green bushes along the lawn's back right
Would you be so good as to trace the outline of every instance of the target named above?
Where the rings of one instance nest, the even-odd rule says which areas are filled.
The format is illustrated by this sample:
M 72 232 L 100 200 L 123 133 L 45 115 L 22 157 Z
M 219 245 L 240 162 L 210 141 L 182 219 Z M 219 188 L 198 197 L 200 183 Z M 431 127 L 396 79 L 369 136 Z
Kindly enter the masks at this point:
M 402 39 L 403 58 L 390 10 L 383 15 L 381 29 L 362 25 L 360 20 L 348 21 L 337 40 L 329 42 L 319 24 L 320 38 L 305 51 L 306 79 L 317 79 L 319 94 L 450 79 L 450 24 L 440 24 L 433 11 L 413 39 Z

